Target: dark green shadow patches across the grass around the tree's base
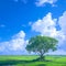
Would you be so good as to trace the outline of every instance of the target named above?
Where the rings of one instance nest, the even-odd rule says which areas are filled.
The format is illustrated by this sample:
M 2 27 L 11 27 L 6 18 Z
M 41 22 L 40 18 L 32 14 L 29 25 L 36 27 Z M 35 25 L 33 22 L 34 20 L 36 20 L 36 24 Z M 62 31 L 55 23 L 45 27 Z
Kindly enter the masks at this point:
M 38 58 L 33 59 L 33 61 L 0 61 L 0 66 L 15 66 L 18 64 L 26 64 L 26 63 L 34 63 L 34 62 L 41 62 Z M 48 62 L 48 61 L 43 61 L 43 62 Z M 37 64 L 36 66 L 46 66 L 45 64 Z

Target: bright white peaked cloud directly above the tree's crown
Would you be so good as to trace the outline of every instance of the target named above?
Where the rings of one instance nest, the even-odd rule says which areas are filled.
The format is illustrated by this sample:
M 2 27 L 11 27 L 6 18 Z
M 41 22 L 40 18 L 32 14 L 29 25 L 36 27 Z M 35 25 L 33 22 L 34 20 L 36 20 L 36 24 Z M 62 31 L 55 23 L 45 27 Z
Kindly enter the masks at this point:
M 52 13 L 46 14 L 42 20 L 37 20 L 32 30 L 40 32 L 42 35 L 56 36 L 56 23 L 52 19 Z

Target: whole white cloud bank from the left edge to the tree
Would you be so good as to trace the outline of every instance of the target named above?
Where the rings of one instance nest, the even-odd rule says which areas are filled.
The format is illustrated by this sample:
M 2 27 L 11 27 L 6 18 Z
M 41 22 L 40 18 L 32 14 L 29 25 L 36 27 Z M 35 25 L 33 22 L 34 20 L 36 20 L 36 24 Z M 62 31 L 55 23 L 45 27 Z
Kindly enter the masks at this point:
M 25 51 L 26 41 L 24 38 L 25 38 L 25 33 L 23 31 L 20 31 L 18 34 L 12 36 L 12 40 L 0 43 L 0 52 L 15 54 L 15 52 L 21 51 L 21 54 L 24 54 L 26 52 Z

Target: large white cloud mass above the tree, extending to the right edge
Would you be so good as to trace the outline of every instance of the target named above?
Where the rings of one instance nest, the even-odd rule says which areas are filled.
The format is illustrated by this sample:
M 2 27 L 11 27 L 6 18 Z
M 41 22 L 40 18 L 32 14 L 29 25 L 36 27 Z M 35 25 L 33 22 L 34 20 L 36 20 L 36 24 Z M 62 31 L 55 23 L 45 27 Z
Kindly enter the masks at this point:
M 43 19 L 33 23 L 32 30 L 38 32 L 41 35 L 52 36 L 58 40 L 58 47 L 65 50 L 66 47 L 66 12 L 58 19 L 61 30 L 57 31 L 56 20 L 52 18 L 52 13 L 47 13 Z

